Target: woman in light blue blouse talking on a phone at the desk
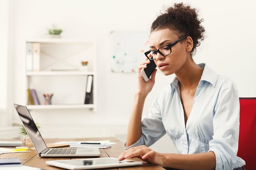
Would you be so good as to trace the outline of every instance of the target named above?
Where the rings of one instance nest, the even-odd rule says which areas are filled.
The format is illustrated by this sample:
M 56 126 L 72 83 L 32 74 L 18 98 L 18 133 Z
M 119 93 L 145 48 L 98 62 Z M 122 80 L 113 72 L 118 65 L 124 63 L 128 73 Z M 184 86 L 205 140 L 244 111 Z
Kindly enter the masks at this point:
M 239 137 L 239 95 L 234 83 L 192 55 L 204 40 L 195 8 L 175 4 L 152 23 L 150 50 L 137 70 L 138 87 L 119 160 L 140 159 L 183 170 L 233 170 L 245 162 L 236 156 Z M 142 120 L 146 96 L 154 86 L 156 71 L 148 82 L 140 71 L 154 59 L 164 75 L 175 74 Z M 142 121 L 141 121 L 142 120 Z M 178 153 L 157 153 L 147 146 L 168 134 Z

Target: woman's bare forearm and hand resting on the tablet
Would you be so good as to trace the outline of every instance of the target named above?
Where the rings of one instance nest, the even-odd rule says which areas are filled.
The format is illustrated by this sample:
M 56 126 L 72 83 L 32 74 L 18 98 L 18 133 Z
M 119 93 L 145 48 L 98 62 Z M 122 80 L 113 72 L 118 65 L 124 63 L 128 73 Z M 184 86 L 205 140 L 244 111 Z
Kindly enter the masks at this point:
M 195 154 L 157 153 L 143 146 L 132 147 L 119 156 L 119 161 L 139 157 L 152 164 L 172 167 L 181 170 L 215 170 L 215 154 L 213 152 Z

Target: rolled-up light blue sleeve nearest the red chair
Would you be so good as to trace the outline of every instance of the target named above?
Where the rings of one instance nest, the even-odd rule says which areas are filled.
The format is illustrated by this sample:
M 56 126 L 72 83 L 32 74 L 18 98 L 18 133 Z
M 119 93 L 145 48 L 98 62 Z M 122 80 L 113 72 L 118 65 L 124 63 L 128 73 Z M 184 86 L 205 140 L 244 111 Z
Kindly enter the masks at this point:
M 209 151 L 213 151 L 216 157 L 215 170 L 233 170 L 244 164 L 244 160 L 237 160 L 240 158 L 236 156 L 239 138 L 239 110 L 236 85 L 231 81 L 226 81 L 219 91 L 215 105 L 214 135 L 209 141 Z

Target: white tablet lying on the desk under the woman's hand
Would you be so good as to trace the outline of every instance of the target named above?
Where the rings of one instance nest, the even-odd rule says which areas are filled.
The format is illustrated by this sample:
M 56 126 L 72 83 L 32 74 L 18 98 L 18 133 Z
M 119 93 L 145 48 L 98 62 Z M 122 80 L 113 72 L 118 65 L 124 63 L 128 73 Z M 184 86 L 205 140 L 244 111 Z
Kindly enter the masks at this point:
M 90 170 L 109 167 L 126 167 L 143 164 L 142 161 L 122 160 L 117 158 L 90 158 L 90 159 L 72 159 L 59 161 L 46 161 L 46 164 L 66 168 L 68 170 Z

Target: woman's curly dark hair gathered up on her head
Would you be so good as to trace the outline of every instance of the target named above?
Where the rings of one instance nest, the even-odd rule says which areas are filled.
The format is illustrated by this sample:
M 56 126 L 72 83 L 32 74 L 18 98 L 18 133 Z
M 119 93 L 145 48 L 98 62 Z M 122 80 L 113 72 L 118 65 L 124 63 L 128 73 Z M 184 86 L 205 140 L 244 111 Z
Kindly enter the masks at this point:
M 185 6 L 183 3 L 175 3 L 174 7 L 169 7 L 165 13 L 161 13 L 151 25 L 151 32 L 163 28 L 169 28 L 173 31 L 178 31 L 181 37 L 190 36 L 194 46 L 190 54 L 194 54 L 196 47 L 200 45 L 200 41 L 204 40 L 204 27 L 201 22 L 204 20 L 198 19 L 197 10 L 190 6 Z

